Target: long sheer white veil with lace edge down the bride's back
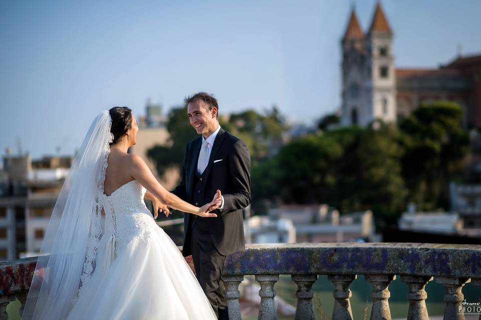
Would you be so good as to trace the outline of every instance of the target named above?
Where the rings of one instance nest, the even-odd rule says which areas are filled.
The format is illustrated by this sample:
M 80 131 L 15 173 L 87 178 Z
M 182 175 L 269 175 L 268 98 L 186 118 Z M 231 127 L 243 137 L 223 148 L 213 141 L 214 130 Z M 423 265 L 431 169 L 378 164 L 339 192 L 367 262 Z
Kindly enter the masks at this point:
M 109 111 L 98 114 L 75 156 L 45 232 L 23 319 L 65 319 L 95 268 L 111 122 Z

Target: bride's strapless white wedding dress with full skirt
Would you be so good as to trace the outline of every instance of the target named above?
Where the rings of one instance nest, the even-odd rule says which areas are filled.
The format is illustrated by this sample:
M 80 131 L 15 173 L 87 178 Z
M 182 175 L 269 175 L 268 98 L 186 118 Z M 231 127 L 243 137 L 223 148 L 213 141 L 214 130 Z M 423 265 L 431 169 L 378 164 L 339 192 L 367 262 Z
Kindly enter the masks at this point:
M 132 180 L 102 195 L 105 225 L 94 271 L 68 319 L 216 319 L 177 246 Z

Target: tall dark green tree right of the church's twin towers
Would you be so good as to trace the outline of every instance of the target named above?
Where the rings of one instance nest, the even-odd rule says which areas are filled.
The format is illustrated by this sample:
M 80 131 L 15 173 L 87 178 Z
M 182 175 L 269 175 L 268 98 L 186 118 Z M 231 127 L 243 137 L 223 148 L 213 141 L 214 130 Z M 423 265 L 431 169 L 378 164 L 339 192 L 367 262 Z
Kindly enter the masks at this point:
M 462 176 L 469 138 L 454 102 L 423 104 L 400 123 L 406 149 L 402 172 L 408 200 L 421 209 L 448 208 L 449 181 Z

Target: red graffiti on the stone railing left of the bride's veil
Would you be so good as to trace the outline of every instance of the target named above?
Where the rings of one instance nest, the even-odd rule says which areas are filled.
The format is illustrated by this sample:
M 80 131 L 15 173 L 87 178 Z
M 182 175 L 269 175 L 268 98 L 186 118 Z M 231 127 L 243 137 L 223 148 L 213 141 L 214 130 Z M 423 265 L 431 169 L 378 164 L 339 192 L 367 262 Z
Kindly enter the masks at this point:
M 8 294 L 13 288 L 16 291 L 27 290 L 30 287 L 30 281 L 27 283 L 26 279 L 32 278 L 27 275 L 34 273 L 36 264 L 36 262 L 21 263 L 15 267 L 8 265 L 0 268 L 0 295 Z

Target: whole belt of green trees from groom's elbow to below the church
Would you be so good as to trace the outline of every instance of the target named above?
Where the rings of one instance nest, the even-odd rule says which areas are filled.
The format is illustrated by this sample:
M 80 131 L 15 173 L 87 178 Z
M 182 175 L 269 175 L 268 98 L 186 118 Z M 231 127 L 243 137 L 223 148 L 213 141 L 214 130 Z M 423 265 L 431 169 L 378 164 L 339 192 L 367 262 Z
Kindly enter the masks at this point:
M 394 222 L 408 201 L 447 209 L 449 182 L 461 178 L 469 150 L 461 118 L 459 105 L 441 101 L 399 125 L 376 121 L 293 140 L 253 167 L 253 200 L 372 209 L 380 225 Z

